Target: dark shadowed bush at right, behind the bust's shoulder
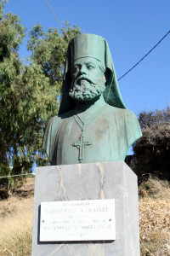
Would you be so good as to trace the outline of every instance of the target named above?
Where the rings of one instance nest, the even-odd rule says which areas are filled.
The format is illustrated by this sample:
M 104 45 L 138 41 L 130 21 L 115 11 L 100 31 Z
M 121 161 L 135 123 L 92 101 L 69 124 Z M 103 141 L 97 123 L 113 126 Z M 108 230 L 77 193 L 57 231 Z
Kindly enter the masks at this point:
M 170 179 L 170 108 L 139 113 L 143 137 L 133 145 L 133 170 Z

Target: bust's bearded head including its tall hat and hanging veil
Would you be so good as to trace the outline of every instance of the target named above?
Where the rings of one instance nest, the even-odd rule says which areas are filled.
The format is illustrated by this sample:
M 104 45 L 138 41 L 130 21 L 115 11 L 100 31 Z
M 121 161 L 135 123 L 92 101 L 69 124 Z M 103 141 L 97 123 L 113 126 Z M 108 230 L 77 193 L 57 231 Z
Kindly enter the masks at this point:
M 106 103 L 126 108 L 105 38 L 94 34 L 78 35 L 67 50 L 59 113 L 74 108 L 75 100 L 94 100 L 102 93 Z

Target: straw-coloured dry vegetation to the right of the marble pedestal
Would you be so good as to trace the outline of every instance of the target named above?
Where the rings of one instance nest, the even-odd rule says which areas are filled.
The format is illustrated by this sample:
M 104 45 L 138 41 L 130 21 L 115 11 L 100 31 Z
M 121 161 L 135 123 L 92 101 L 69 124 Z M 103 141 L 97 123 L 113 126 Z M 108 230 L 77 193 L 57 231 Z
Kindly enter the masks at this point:
M 141 256 L 170 255 L 169 183 L 150 178 L 139 187 Z

